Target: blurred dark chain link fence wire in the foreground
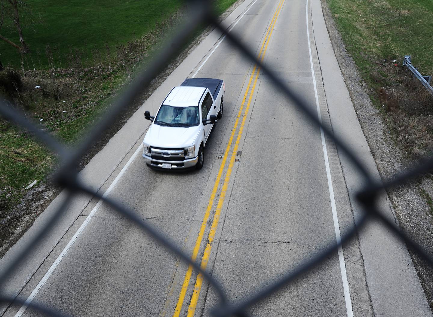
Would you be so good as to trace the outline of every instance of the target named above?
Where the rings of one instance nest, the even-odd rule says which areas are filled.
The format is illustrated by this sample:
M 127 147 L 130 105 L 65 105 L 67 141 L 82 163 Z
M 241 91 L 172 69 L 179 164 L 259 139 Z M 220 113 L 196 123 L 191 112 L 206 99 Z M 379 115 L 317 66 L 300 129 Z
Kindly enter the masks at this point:
M 308 0 L 307 0 L 308 1 Z M 52 215 L 52 217 L 45 223 L 45 226 L 39 231 L 39 234 L 25 247 L 23 250 L 15 256 L 15 259 L 10 263 L 6 269 L 3 270 L 0 275 L 0 285 L 4 287 L 8 282 L 8 278 L 13 274 L 14 269 L 18 264 L 29 254 L 45 237 L 48 231 L 53 225 L 58 221 L 63 211 L 66 210 L 68 204 L 71 202 L 73 195 L 77 193 L 86 193 L 91 197 L 101 199 L 107 205 L 113 208 L 114 211 L 125 216 L 133 224 L 136 224 L 143 231 L 149 233 L 156 241 L 158 241 L 163 247 L 167 248 L 171 252 L 177 254 L 186 263 L 189 263 L 197 272 L 200 272 L 204 278 L 209 282 L 210 286 L 213 287 L 216 295 L 219 299 L 219 304 L 213 309 L 211 314 L 215 317 L 228 317 L 228 316 L 247 316 L 246 311 L 248 308 L 256 304 L 265 298 L 274 295 L 276 292 L 281 291 L 282 288 L 289 285 L 297 277 L 305 274 L 316 267 L 318 264 L 326 261 L 328 256 L 333 255 L 337 252 L 338 248 L 343 244 L 349 242 L 351 239 L 356 237 L 357 231 L 361 230 L 368 221 L 380 221 L 385 227 L 391 229 L 396 238 L 403 240 L 407 245 L 417 252 L 425 261 L 427 261 L 430 266 L 433 265 L 433 259 L 429 256 L 423 248 L 416 242 L 412 241 L 406 234 L 400 231 L 394 223 L 388 220 L 376 207 L 376 200 L 380 192 L 384 189 L 389 189 L 395 185 L 401 185 L 410 179 L 414 179 L 422 173 L 426 173 L 433 167 L 433 157 L 421 162 L 415 167 L 407 169 L 406 171 L 395 175 L 394 178 L 386 180 L 383 183 L 375 181 L 374 178 L 368 174 L 365 166 L 360 160 L 355 156 L 354 152 L 350 150 L 349 146 L 344 140 L 337 138 L 333 131 L 323 125 L 321 118 L 317 116 L 317 112 L 312 111 L 307 103 L 294 93 L 286 83 L 278 79 L 274 70 L 263 64 L 255 53 L 247 48 L 243 44 L 242 39 L 234 34 L 233 32 L 228 32 L 224 26 L 220 24 L 217 16 L 213 13 L 213 3 L 210 0 L 186 0 L 185 4 L 187 6 L 187 22 L 184 23 L 179 29 L 180 31 L 173 36 L 170 40 L 166 42 L 164 48 L 160 51 L 157 57 L 149 64 L 148 67 L 143 68 L 143 70 L 138 74 L 138 76 L 133 80 L 129 86 L 127 86 L 120 96 L 113 102 L 113 105 L 108 110 L 107 114 L 100 120 L 100 122 L 91 129 L 85 138 L 79 145 L 77 149 L 68 149 L 64 144 L 55 140 L 51 134 L 41 131 L 32 122 L 27 120 L 25 116 L 15 110 L 10 102 L 6 101 L 0 96 L 0 115 L 6 120 L 15 123 L 22 128 L 30 131 L 36 139 L 52 150 L 58 157 L 60 161 L 60 167 L 55 171 L 53 180 L 60 186 L 63 186 L 67 190 L 67 195 L 58 210 Z M 343 235 L 342 239 L 335 243 L 335 240 L 328 243 L 328 247 L 321 252 L 318 252 L 312 259 L 305 260 L 299 263 L 298 266 L 290 272 L 286 272 L 285 275 L 274 284 L 270 286 L 260 288 L 256 292 L 253 292 L 249 298 L 237 304 L 229 304 L 226 297 L 226 292 L 222 285 L 213 277 L 200 268 L 200 262 L 194 262 L 191 260 L 189 254 L 183 253 L 175 244 L 168 238 L 159 234 L 152 226 L 142 221 L 135 212 L 129 210 L 125 206 L 121 205 L 113 199 L 110 199 L 106 195 L 101 194 L 93 189 L 90 189 L 86 184 L 81 183 L 78 180 L 77 162 L 86 153 L 86 151 L 91 147 L 91 145 L 98 140 L 100 135 L 116 120 L 116 117 L 123 112 L 128 105 L 145 90 L 150 82 L 161 72 L 182 49 L 185 42 L 190 38 L 194 32 L 202 27 L 203 25 L 212 26 L 218 29 L 222 36 L 226 36 L 226 39 L 233 45 L 234 48 L 239 50 L 246 58 L 255 63 L 261 71 L 268 76 L 270 81 L 277 87 L 281 92 L 283 92 L 289 100 L 291 100 L 297 109 L 300 109 L 304 115 L 309 118 L 309 120 L 319 126 L 323 132 L 333 141 L 338 150 L 343 151 L 347 155 L 349 160 L 352 161 L 353 166 L 362 175 L 364 188 L 356 195 L 356 199 L 362 205 L 363 214 L 356 221 L 354 226 Z M 42 304 L 36 304 L 34 302 L 22 301 L 15 296 L 3 296 L 0 298 L 0 302 L 3 303 L 13 303 L 14 305 L 20 304 L 29 307 L 30 309 L 37 311 L 39 313 L 45 314 L 47 316 L 61 317 L 65 316 L 59 312 L 52 311 Z

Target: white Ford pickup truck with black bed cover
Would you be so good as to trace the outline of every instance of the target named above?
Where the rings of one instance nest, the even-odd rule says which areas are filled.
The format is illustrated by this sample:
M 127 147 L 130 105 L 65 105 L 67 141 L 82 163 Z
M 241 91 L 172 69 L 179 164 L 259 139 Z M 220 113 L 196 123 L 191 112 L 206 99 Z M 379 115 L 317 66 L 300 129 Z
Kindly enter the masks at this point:
M 210 131 L 223 115 L 224 81 L 189 78 L 174 87 L 153 117 L 143 140 L 143 157 L 151 167 L 183 169 L 204 163 Z

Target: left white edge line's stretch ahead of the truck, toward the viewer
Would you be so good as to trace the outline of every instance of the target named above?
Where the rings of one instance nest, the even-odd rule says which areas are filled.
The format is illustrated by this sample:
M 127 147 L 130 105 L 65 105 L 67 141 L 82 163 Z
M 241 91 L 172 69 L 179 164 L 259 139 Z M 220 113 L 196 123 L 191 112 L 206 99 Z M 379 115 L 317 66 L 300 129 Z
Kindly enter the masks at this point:
M 140 151 L 142 150 L 142 147 L 143 147 L 143 144 L 140 144 L 140 146 L 138 147 L 138 149 L 134 152 L 134 154 L 132 154 L 132 157 L 128 160 L 128 162 L 126 163 L 126 165 L 123 167 L 123 169 L 120 171 L 120 173 L 113 180 L 113 183 L 111 183 L 111 185 L 110 185 L 110 187 L 108 187 L 107 191 L 104 192 L 104 194 L 103 194 L 102 197 L 105 198 L 105 197 L 107 197 L 110 194 L 110 192 L 113 190 L 114 186 L 116 186 L 117 182 L 119 181 L 120 177 L 122 177 L 122 175 L 128 169 L 129 165 L 131 165 L 132 161 L 140 153 Z M 38 292 L 40 291 L 40 289 L 42 288 L 42 286 L 44 286 L 45 282 L 51 276 L 52 272 L 54 272 L 54 270 L 56 269 L 56 267 L 58 266 L 58 264 L 60 263 L 60 261 L 63 259 L 63 257 L 65 256 L 65 254 L 69 251 L 69 249 L 71 248 L 72 244 L 74 244 L 74 242 L 77 240 L 78 236 L 81 234 L 81 232 L 83 232 L 83 230 L 87 226 L 87 224 L 89 224 L 90 219 L 92 219 L 92 217 L 94 216 L 94 214 L 96 213 L 96 211 L 99 209 L 100 205 L 102 205 L 102 202 L 103 202 L 103 200 L 100 199 L 97 202 L 97 204 L 95 205 L 95 207 L 92 209 L 92 211 L 90 211 L 90 214 L 87 216 L 86 220 L 84 220 L 84 222 L 78 228 L 78 231 L 74 234 L 74 236 L 71 238 L 71 240 L 69 240 L 69 242 L 66 245 L 65 249 L 63 249 L 63 251 L 61 251 L 61 253 L 57 257 L 57 259 L 55 259 L 55 261 L 52 264 L 52 266 L 48 269 L 48 271 L 45 273 L 44 277 L 41 279 L 41 281 L 39 282 L 39 284 L 32 291 L 32 294 L 30 294 L 30 296 L 24 302 L 23 306 L 21 306 L 21 308 L 19 309 L 19 311 L 15 314 L 15 317 L 21 317 L 23 315 L 23 313 L 26 311 L 27 307 L 29 307 L 29 304 L 33 301 L 33 299 L 38 294 Z

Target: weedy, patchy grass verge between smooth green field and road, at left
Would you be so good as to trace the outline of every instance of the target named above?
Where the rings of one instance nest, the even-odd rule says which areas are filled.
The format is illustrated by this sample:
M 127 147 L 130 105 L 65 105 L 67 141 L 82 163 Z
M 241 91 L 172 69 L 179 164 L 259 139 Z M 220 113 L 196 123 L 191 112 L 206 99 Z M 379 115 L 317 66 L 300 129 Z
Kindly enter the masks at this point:
M 216 12 L 223 13 L 235 2 L 217 0 Z M 87 127 L 97 122 L 116 92 L 134 76 L 138 66 L 149 62 L 164 39 L 176 31 L 181 15 L 178 10 L 165 19 L 161 18 L 144 35 L 119 45 L 114 50 L 115 55 L 103 55 L 105 51 L 97 53 L 98 58 L 94 59 L 97 62 L 93 64 L 86 64 L 82 54 L 62 67 L 54 57 L 48 68 L 25 67 L 23 72 L 20 67 L 9 67 L 0 73 L 0 90 L 13 99 L 28 118 L 72 146 L 80 140 Z M 201 31 L 203 29 L 195 36 Z M 185 47 L 193 42 L 195 36 L 191 42 L 185 43 Z M 95 51 L 92 54 L 95 56 Z M 15 80 L 13 89 L 1 86 L 5 78 L 6 81 Z M 35 187 L 45 186 L 54 165 L 55 158 L 45 147 L 26 131 L 0 118 L 0 249 L 23 219 L 37 216 L 28 206 L 19 211 L 16 208 L 23 202 L 29 192 L 25 188 L 33 180 L 38 180 Z

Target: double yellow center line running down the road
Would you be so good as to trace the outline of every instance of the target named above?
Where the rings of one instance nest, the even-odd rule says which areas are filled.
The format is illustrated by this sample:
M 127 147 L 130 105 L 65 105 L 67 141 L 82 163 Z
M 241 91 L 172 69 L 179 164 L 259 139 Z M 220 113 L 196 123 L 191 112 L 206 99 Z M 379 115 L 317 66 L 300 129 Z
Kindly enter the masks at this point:
M 280 11 L 281 11 L 281 7 L 283 6 L 283 3 L 284 3 L 284 0 L 280 0 L 280 3 L 278 4 L 278 8 L 277 8 L 277 10 L 275 10 L 274 16 L 272 17 L 271 23 L 270 23 L 268 30 L 266 32 L 265 39 L 263 40 L 262 47 L 260 48 L 260 53 L 259 53 L 260 61 L 263 61 L 263 59 L 265 57 L 265 52 L 268 48 L 269 39 L 271 38 L 273 29 L 275 26 L 275 22 L 277 21 L 277 18 L 278 18 Z M 224 178 L 224 183 L 223 183 L 223 186 L 222 186 L 222 189 L 220 192 L 220 198 L 218 200 L 218 204 L 216 205 L 216 211 L 215 211 L 215 214 L 213 216 L 212 226 L 210 227 L 210 232 L 208 235 L 208 242 L 207 242 L 207 245 L 204 249 L 203 257 L 201 259 L 201 268 L 204 270 L 206 269 L 207 262 L 209 260 L 210 250 L 212 249 L 211 243 L 215 237 L 216 227 L 218 226 L 218 221 L 220 220 L 221 210 L 223 208 L 223 202 L 224 202 L 224 199 L 226 198 L 226 192 L 227 192 L 227 188 L 229 185 L 230 176 L 232 174 L 233 164 L 235 162 L 236 153 L 237 153 L 237 150 L 239 147 L 239 141 L 242 137 L 243 128 L 244 128 L 246 118 L 247 118 L 247 115 L 249 112 L 249 107 L 251 105 L 252 96 L 254 94 L 254 90 L 255 90 L 257 80 L 259 78 L 259 74 L 260 74 L 260 68 L 258 68 L 257 65 L 255 65 L 253 70 L 252 70 L 252 75 L 249 79 L 245 95 L 243 96 L 242 104 L 240 106 L 235 124 L 233 126 L 232 133 L 231 133 L 230 138 L 229 138 L 229 142 L 228 142 L 226 150 L 224 152 L 224 156 L 223 156 L 223 159 L 221 161 L 220 169 L 218 171 L 218 175 L 216 176 L 216 180 L 215 180 L 215 183 L 213 185 L 212 194 L 210 195 L 209 203 L 207 205 L 206 212 L 204 214 L 204 218 L 203 218 L 203 221 L 201 223 L 200 231 L 199 231 L 199 234 L 197 236 L 196 243 L 194 245 L 194 250 L 193 250 L 192 257 L 191 257 L 191 259 L 193 261 L 195 261 L 197 259 L 197 255 L 198 255 L 198 252 L 200 250 L 200 245 L 203 241 L 204 231 L 206 230 L 206 224 L 207 224 L 207 221 L 208 221 L 209 216 L 210 216 L 210 211 L 212 209 L 213 202 L 215 200 L 215 196 L 216 196 L 216 193 L 218 191 L 218 187 L 220 186 L 221 176 L 223 175 L 223 170 L 224 170 L 224 167 L 226 165 L 226 160 L 227 160 L 227 157 L 229 155 L 230 147 L 232 146 L 233 138 L 236 134 L 236 130 L 237 130 L 238 125 L 239 125 L 239 119 L 242 116 L 242 122 L 241 122 L 241 125 L 239 128 L 238 135 L 236 137 L 235 145 L 234 145 L 233 150 L 232 150 L 232 155 L 230 157 L 229 166 L 227 168 L 226 176 Z M 254 79 L 254 83 L 253 83 L 252 89 L 250 91 L 250 87 L 251 87 L 251 83 L 252 83 L 253 79 Z M 244 108 L 244 105 L 245 105 L 245 102 L 246 102 L 248 95 L 249 95 L 248 102 L 246 104 L 245 112 L 242 115 L 242 111 L 243 111 L 243 108 Z M 181 313 L 181 308 L 184 304 L 185 295 L 187 293 L 188 285 L 189 285 L 190 280 L 191 280 L 192 270 L 193 270 L 193 267 L 191 265 L 188 266 L 187 272 L 185 273 L 184 282 L 182 284 L 181 292 L 179 294 L 178 303 L 176 304 L 176 308 L 174 309 L 173 317 L 179 317 L 179 315 Z M 203 283 L 203 276 L 201 274 L 198 274 L 196 281 L 195 281 L 195 285 L 194 285 L 194 292 L 193 292 L 190 304 L 188 306 L 188 315 L 187 315 L 188 317 L 194 316 L 194 312 L 195 312 L 195 309 L 197 307 L 197 301 L 198 301 L 198 298 L 200 295 L 200 289 L 201 289 L 202 283 Z

